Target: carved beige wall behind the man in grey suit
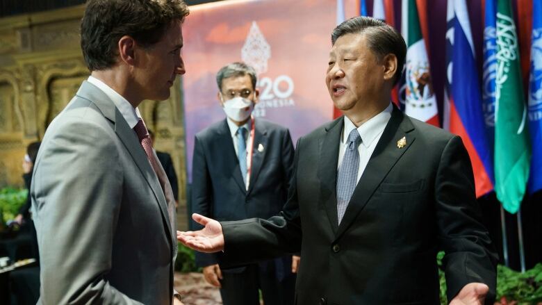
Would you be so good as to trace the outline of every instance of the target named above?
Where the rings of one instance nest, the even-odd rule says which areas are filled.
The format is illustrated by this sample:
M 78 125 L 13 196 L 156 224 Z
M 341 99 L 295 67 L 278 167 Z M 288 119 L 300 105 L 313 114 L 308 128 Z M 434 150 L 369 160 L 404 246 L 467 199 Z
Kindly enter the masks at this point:
M 22 186 L 26 145 L 40 140 L 89 75 L 79 45 L 83 6 L 0 19 L 0 188 Z M 186 226 L 186 168 L 180 81 L 167 101 L 140 111 L 155 148 L 172 155 L 179 181 L 179 227 Z

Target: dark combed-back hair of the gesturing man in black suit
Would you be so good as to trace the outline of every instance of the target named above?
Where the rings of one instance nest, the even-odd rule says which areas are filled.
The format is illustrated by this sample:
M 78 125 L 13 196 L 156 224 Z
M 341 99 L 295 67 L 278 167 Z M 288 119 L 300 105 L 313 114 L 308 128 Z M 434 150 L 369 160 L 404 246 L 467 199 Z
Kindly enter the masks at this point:
M 397 83 L 403 72 L 404 60 L 407 57 L 407 44 L 395 28 L 372 17 L 353 17 L 339 24 L 331 33 L 331 44 L 346 34 L 365 34 L 367 47 L 381 60 L 388 54 L 397 57 L 397 71 L 394 83 Z

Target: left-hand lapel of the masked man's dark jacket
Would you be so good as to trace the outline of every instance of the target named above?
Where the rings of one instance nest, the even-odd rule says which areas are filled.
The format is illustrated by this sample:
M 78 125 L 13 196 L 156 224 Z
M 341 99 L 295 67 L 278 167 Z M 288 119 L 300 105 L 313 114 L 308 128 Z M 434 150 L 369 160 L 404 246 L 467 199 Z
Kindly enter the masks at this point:
M 233 140 L 229 131 L 227 119 L 224 119 L 222 127 L 218 130 L 217 147 L 224 147 L 222 151 L 217 151 L 220 154 L 218 158 L 224 158 L 224 164 L 227 168 L 226 172 L 231 172 L 231 178 L 236 181 L 237 185 L 243 192 L 247 192 L 243 176 L 241 176 L 241 169 L 239 166 L 239 160 L 236 156 L 236 150 L 233 147 Z

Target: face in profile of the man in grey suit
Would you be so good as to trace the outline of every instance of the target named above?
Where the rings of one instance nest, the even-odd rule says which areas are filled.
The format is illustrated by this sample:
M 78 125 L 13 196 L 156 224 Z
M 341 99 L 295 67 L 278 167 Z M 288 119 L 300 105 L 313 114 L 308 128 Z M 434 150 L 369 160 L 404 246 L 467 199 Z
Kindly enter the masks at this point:
M 183 58 L 183 33 L 181 23 L 172 25 L 163 38 L 153 46 L 136 49 L 140 63 L 134 67 L 133 78 L 140 91 L 141 99 L 163 101 L 170 97 L 170 88 L 177 75 L 186 72 Z

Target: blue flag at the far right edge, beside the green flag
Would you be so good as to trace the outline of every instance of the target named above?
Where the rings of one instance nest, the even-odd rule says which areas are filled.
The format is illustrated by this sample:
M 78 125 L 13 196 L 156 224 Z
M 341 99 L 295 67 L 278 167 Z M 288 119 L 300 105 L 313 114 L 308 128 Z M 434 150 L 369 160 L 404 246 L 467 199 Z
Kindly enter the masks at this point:
M 529 77 L 529 133 L 532 160 L 529 192 L 542 189 L 542 1 L 533 1 L 531 75 Z

